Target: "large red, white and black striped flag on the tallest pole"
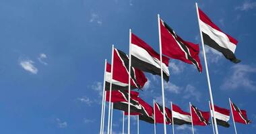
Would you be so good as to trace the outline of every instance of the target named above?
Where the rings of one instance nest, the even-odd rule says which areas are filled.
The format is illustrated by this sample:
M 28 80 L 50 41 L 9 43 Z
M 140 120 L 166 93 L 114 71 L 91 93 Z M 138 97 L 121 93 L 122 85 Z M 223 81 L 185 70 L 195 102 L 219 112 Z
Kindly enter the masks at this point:
M 221 52 L 228 60 L 239 63 L 234 56 L 236 50 L 237 40 L 225 34 L 212 20 L 205 14 L 201 9 L 198 8 L 199 12 L 199 25 L 203 34 L 204 44 Z

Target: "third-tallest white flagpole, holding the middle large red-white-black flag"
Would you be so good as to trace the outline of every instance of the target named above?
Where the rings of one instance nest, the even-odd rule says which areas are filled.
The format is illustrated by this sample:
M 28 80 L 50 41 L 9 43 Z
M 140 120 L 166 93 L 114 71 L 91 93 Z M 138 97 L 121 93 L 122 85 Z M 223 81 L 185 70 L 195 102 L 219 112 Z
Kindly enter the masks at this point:
M 128 99 L 128 134 L 130 134 L 130 115 L 131 115 L 131 29 L 129 29 L 129 99 Z

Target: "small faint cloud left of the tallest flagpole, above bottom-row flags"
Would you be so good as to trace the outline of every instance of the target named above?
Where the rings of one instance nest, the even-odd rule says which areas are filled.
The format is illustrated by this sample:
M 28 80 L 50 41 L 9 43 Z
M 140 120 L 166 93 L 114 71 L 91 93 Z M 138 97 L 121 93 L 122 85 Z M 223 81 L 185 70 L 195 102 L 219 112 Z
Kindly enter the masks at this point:
M 196 90 L 195 86 L 192 86 L 191 84 L 188 84 L 185 88 L 183 98 L 195 98 L 195 100 L 199 101 L 201 97 L 201 93 Z

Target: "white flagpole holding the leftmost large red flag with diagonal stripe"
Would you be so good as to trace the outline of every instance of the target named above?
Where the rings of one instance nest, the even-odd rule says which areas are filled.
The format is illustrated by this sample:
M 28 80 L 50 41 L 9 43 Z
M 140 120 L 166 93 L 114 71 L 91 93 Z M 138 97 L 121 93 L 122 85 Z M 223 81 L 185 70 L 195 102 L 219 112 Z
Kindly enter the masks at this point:
M 111 94 L 112 94 L 112 79 L 113 79 L 113 66 L 114 66 L 114 45 L 112 45 L 112 58 L 111 58 L 111 74 L 110 74 L 110 87 L 109 87 L 109 102 L 108 102 L 108 134 L 110 129 L 110 110 L 111 110 Z

